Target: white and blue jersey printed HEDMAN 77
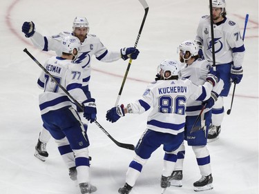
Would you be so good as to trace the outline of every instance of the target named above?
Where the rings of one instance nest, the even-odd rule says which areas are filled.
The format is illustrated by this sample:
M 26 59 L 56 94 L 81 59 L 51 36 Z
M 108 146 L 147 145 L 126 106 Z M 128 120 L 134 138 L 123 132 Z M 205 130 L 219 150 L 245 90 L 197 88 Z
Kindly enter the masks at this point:
M 50 59 L 45 62 L 44 68 L 46 68 L 59 84 L 61 84 L 74 99 L 79 101 L 79 103 L 87 99 L 84 91 L 81 90 L 83 83 L 81 75 L 83 75 L 84 70 L 82 70 L 79 64 L 75 64 L 73 61 L 61 57 L 50 57 Z M 72 106 L 77 110 L 73 101 L 59 88 L 55 81 L 52 81 L 46 72 L 41 72 L 38 85 L 44 88 L 44 93 L 39 95 L 41 115 L 48 113 L 50 110 L 57 110 L 65 106 Z

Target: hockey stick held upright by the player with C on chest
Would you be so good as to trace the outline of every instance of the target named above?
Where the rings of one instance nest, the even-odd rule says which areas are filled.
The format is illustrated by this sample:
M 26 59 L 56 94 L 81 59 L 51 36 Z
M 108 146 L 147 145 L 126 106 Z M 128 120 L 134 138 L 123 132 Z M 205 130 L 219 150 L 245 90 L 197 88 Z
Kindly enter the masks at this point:
M 138 33 L 138 35 L 137 35 L 137 39 L 136 39 L 136 41 L 135 41 L 135 46 L 134 46 L 134 48 L 137 48 L 137 43 L 138 43 L 138 41 L 139 41 L 139 39 L 140 39 L 140 35 L 141 35 L 142 29 L 143 29 L 143 27 L 144 27 L 144 23 L 145 23 L 145 21 L 146 21 L 146 15 L 148 14 L 148 4 L 146 3 L 146 1 L 145 1 L 145 0 L 139 0 L 139 1 L 140 1 L 140 3 L 142 4 L 142 6 L 144 7 L 145 14 L 144 14 L 144 17 L 143 17 L 143 19 L 142 19 L 142 23 L 141 23 L 141 26 L 140 26 L 140 31 L 139 31 L 139 33 Z M 130 59 L 130 60 L 128 61 L 128 67 L 127 67 L 127 69 L 126 69 L 126 72 L 125 72 L 125 75 L 124 75 L 124 78 L 123 78 L 123 81 L 122 81 L 122 86 L 121 86 L 120 89 L 119 89 L 119 94 L 118 94 L 117 100 L 116 100 L 116 102 L 115 102 L 115 106 L 117 106 L 117 105 L 119 104 L 119 98 L 120 98 L 120 96 L 122 95 L 122 90 L 123 90 L 123 88 L 124 88 L 124 84 L 125 84 L 126 78 L 127 78 L 127 76 L 128 76 L 128 71 L 129 71 L 129 69 L 131 68 L 131 62 L 132 62 L 132 59 Z

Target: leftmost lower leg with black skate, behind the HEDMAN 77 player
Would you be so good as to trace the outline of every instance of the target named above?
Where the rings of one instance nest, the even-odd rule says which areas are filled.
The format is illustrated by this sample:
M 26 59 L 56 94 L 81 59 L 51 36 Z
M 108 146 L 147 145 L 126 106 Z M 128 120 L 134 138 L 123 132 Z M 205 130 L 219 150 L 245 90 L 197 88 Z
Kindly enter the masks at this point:
M 41 161 L 45 162 L 46 157 L 48 157 L 48 152 L 46 150 L 46 145 L 50 140 L 50 133 L 46 128 L 42 128 L 41 132 L 39 133 L 38 142 L 35 146 L 35 157 L 39 158 Z

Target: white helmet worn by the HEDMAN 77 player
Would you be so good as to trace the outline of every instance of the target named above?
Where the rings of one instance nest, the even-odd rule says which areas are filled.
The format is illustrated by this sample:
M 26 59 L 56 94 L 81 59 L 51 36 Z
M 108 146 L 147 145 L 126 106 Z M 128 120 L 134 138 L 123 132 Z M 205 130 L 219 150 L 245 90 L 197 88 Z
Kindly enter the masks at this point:
M 62 52 L 76 56 L 73 53 L 74 48 L 77 49 L 77 52 L 81 49 L 81 42 L 79 39 L 74 36 L 64 37 L 62 40 Z

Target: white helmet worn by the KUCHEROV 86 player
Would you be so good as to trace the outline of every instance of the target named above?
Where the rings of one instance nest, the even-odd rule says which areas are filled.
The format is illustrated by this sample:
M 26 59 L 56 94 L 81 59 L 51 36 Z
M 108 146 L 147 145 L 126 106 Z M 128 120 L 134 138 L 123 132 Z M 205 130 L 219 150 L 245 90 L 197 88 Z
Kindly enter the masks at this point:
M 172 76 L 179 75 L 180 66 L 178 64 L 178 61 L 171 60 L 171 59 L 164 59 L 164 61 L 162 61 L 160 63 L 160 66 L 158 66 L 158 67 L 162 71 L 162 75 L 163 75 L 164 79 L 169 79 Z M 171 75 L 169 77 L 165 77 L 166 71 L 171 72 Z

